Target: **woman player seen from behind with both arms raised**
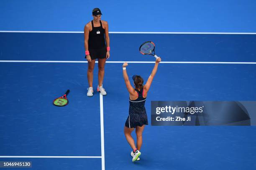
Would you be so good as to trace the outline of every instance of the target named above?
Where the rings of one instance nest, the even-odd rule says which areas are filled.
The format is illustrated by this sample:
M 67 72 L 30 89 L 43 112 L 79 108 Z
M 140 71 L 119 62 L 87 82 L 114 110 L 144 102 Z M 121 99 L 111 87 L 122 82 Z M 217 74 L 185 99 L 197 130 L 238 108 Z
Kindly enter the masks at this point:
M 140 160 L 139 156 L 141 155 L 141 145 L 142 145 L 142 132 L 144 130 L 144 126 L 148 125 L 148 117 L 146 114 L 146 109 L 144 107 L 146 97 L 148 95 L 148 90 L 151 86 L 154 76 L 156 75 L 158 63 L 161 61 L 161 58 L 156 59 L 155 66 L 151 72 L 151 75 L 148 77 L 148 80 L 145 85 L 143 85 L 143 78 L 139 75 L 133 75 L 133 85 L 135 88 L 131 86 L 129 81 L 126 67 L 127 62 L 123 63 L 123 78 L 125 80 L 125 85 L 129 92 L 129 116 L 125 122 L 124 134 L 125 138 L 128 141 L 129 145 L 133 149 L 131 152 L 131 156 L 133 157 L 132 161 Z M 134 140 L 131 136 L 134 128 L 136 128 L 136 136 L 137 136 L 137 145 L 135 146 Z

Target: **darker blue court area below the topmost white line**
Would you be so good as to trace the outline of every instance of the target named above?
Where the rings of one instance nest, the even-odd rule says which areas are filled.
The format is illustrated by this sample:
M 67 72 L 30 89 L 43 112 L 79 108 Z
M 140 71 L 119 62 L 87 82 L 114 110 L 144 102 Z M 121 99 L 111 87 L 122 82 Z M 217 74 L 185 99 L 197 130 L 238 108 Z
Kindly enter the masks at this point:
M 0 153 L 32 157 L 1 160 L 31 160 L 35 169 L 101 169 L 103 134 L 105 169 L 255 168 L 256 135 L 255 127 L 250 126 L 148 125 L 141 160 L 131 163 L 130 148 L 123 135 L 129 103 L 121 66 L 128 61 L 130 76 L 139 72 L 148 77 L 154 64 L 146 61 L 154 61 L 154 57 L 138 52 L 138 45 L 148 35 L 111 34 L 112 46 L 117 50 L 113 50 L 113 57 L 105 67 L 104 87 L 108 95 L 102 97 L 104 132 L 100 95 L 95 92 L 93 97 L 86 96 L 87 63 L 81 55 L 82 33 L 2 32 L 0 36 Z M 255 64 L 168 63 L 253 62 L 255 35 L 151 34 L 150 37 L 159 46 L 156 51 L 163 63 L 148 95 L 147 110 L 153 100 L 255 99 Z M 119 46 L 122 38 L 127 42 Z M 166 47 L 165 42 L 170 40 L 172 46 Z M 131 52 L 122 54 L 120 51 L 127 46 Z M 52 100 L 67 89 L 70 89 L 69 105 L 52 105 Z M 161 156 L 155 158 L 156 155 Z M 42 158 L 33 158 L 36 156 Z

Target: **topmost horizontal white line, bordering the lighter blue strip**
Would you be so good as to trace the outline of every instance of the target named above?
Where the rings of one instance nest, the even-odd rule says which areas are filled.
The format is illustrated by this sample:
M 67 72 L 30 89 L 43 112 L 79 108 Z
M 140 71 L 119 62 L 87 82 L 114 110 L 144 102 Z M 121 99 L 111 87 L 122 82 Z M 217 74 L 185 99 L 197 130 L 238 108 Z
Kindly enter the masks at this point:
M 27 33 L 84 33 L 83 31 L 0 31 L 0 32 L 27 32 Z M 256 32 L 115 32 L 110 34 L 256 34 Z

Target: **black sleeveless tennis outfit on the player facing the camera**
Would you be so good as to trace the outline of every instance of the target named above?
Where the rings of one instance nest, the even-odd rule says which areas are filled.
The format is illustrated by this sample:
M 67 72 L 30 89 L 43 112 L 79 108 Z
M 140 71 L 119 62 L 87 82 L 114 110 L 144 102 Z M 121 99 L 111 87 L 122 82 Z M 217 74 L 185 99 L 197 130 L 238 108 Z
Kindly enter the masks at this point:
M 92 30 L 89 32 L 88 49 L 92 60 L 96 58 L 106 58 L 105 29 L 102 27 L 94 27 L 92 21 Z

